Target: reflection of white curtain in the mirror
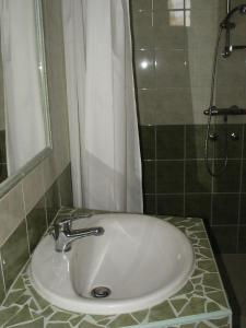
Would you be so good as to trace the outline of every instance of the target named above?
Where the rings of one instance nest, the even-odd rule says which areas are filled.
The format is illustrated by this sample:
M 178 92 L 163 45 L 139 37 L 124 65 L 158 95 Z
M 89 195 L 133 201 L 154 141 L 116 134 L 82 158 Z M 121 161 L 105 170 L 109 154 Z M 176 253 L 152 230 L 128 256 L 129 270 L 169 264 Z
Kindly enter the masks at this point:
M 46 147 L 34 5 L 0 0 L 9 175 Z

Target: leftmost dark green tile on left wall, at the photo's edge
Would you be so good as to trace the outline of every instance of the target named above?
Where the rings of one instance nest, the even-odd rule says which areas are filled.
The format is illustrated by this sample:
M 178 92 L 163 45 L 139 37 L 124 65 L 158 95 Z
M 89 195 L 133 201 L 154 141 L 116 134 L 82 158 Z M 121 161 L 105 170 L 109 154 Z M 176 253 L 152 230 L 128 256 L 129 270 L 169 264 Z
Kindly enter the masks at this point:
M 28 259 L 25 220 L 1 247 L 5 288 L 9 290 L 17 273 Z

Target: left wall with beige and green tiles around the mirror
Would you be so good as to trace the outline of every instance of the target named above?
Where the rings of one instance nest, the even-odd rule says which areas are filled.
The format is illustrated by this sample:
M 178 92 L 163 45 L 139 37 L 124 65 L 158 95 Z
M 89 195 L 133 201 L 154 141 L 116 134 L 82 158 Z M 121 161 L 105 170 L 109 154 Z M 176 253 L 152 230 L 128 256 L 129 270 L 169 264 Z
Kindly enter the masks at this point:
M 0 199 L 0 301 L 57 210 L 72 201 L 60 5 L 43 1 L 52 153 Z

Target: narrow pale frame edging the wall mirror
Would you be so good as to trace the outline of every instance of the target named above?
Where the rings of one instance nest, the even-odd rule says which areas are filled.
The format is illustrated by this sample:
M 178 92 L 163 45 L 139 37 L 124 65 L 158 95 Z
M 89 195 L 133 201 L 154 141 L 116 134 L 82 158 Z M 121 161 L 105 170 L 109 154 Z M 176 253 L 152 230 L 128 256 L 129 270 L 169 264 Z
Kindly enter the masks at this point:
M 38 164 L 40 164 L 46 157 L 48 157 L 52 153 L 42 0 L 34 0 L 34 9 L 35 9 L 35 21 L 36 21 L 38 62 L 39 62 L 39 70 L 42 70 L 39 77 L 40 77 L 40 92 L 42 92 L 42 99 L 43 99 L 43 113 L 45 118 L 45 136 L 46 136 L 47 147 L 42 152 L 36 154 L 32 160 L 30 160 L 25 165 L 23 165 L 20 169 L 17 169 L 13 175 L 8 176 L 8 178 L 0 184 L 0 198 L 2 198 L 31 171 L 33 171 Z

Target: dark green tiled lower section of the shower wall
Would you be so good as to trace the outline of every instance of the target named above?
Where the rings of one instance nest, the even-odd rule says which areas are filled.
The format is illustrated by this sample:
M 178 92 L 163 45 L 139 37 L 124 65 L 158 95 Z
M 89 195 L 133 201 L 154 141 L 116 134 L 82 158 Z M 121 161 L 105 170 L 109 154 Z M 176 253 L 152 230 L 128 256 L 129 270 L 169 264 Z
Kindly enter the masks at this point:
M 223 128 L 210 141 L 210 165 L 223 165 Z M 204 125 L 142 126 L 147 213 L 204 219 L 222 253 L 246 251 L 246 126 L 230 125 L 239 139 L 229 140 L 229 163 L 212 178 L 204 166 Z M 218 249 L 216 249 L 218 250 Z

